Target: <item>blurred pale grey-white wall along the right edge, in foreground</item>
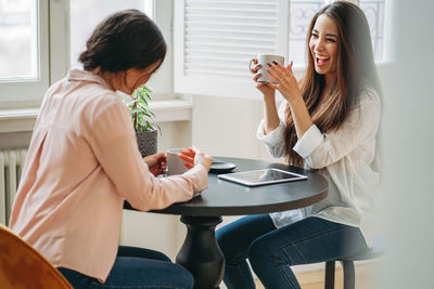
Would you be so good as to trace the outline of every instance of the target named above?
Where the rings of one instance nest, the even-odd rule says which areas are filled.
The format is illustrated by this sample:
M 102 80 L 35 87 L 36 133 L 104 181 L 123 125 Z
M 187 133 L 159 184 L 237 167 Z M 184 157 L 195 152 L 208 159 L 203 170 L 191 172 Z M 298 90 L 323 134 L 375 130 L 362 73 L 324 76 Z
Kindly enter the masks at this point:
M 434 3 L 395 2 L 398 58 L 385 83 L 388 254 L 381 288 L 433 288 Z

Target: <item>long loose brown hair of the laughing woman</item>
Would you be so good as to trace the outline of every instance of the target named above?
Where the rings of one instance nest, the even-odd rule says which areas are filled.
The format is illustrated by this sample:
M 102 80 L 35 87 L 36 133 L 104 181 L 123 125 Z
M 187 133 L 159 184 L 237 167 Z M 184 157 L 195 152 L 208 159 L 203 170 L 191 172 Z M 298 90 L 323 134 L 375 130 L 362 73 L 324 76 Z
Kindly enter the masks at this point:
M 319 107 L 321 93 L 326 87 L 323 75 L 315 70 L 315 61 L 310 53 L 309 40 L 317 18 L 326 14 L 337 26 L 336 80 L 324 105 Z M 322 8 L 311 19 L 306 38 L 308 65 L 299 88 L 312 122 L 321 132 L 336 130 L 345 121 L 348 111 L 357 102 L 363 86 L 372 87 L 381 93 L 376 74 L 371 35 L 363 12 L 355 4 L 340 1 Z M 303 167 L 304 160 L 292 148 L 297 142 L 294 120 L 290 106 L 286 106 L 286 160 L 290 165 Z

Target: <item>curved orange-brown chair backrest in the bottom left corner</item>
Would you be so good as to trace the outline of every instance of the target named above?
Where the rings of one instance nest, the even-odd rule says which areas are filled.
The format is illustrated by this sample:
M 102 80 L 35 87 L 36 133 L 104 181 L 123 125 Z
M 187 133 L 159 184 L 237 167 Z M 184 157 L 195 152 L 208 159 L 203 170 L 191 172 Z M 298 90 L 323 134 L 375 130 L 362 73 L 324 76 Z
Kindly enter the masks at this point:
M 46 258 L 1 224 L 0 287 L 73 288 Z

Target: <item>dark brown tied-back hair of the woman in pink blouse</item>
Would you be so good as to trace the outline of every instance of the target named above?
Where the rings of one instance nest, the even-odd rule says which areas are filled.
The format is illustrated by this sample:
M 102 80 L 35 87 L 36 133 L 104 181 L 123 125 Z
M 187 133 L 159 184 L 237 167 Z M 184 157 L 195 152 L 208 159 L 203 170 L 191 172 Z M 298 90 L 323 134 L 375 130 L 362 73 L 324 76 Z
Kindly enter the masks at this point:
M 78 61 L 85 70 L 117 73 L 163 63 L 166 42 L 158 27 L 138 10 L 124 10 L 101 22 Z

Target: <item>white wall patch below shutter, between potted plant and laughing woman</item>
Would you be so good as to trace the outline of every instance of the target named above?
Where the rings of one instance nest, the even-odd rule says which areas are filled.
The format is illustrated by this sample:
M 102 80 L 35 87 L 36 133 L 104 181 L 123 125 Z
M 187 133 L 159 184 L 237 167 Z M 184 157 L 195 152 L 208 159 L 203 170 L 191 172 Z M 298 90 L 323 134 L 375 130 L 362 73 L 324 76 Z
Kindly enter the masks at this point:
M 219 96 L 193 96 L 192 142 L 213 156 L 257 158 L 261 145 L 256 127 L 261 102 Z

